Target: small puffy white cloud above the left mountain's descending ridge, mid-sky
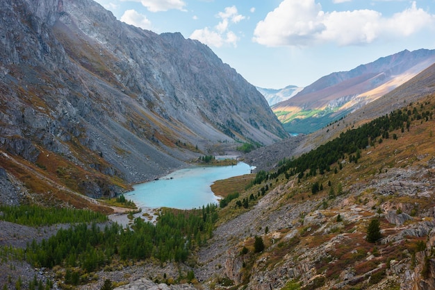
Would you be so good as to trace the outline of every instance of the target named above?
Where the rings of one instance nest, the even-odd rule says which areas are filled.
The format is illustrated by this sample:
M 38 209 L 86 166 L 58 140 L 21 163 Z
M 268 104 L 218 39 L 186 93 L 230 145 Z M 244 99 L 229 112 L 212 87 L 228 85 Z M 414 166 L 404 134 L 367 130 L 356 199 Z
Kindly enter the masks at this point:
M 245 19 L 245 16 L 238 14 L 236 6 L 227 7 L 223 12 L 217 13 L 221 21 L 213 28 L 202 28 L 193 31 L 190 38 L 199 40 L 208 46 L 221 47 L 224 44 L 237 46 L 239 40 L 236 33 L 229 29 L 231 24 L 237 24 Z

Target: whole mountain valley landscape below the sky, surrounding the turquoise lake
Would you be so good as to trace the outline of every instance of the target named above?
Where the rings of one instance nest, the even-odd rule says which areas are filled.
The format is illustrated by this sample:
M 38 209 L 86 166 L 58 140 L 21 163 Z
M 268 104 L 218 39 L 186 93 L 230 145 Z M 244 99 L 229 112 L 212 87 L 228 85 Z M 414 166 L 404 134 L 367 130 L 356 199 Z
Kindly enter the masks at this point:
M 92 0 L 2 4 L 2 289 L 435 288 L 434 51 L 271 104 L 181 33 Z M 193 210 L 130 201 L 218 155 L 256 169 Z

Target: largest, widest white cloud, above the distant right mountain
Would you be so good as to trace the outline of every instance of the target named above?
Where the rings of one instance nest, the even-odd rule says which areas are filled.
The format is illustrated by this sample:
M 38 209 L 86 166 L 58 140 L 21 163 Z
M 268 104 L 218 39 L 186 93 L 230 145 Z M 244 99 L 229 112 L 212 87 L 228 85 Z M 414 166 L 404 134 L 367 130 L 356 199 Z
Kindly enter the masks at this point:
M 284 0 L 258 22 L 253 40 L 266 46 L 361 45 L 383 37 L 409 36 L 433 27 L 434 20 L 434 15 L 416 7 L 416 1 L 410 8 L 384 17 L 375 10 L 324 12 L 315 0 Z

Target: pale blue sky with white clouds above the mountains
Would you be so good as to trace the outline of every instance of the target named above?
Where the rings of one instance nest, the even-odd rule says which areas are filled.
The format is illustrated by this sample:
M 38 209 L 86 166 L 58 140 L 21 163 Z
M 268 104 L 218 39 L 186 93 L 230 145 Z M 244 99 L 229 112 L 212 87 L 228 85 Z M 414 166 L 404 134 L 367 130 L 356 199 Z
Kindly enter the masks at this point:
M 96 1 L 127 24 L 199 40 L 263 88 L 435 48 L 435 0 Z

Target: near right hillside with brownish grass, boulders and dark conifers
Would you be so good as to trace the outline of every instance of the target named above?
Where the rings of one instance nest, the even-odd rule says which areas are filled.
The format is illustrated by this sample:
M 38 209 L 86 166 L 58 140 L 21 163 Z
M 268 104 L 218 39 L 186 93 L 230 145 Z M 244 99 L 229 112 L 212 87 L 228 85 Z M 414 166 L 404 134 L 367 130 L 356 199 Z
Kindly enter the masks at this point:
M 236 288 L 434 287 L 434 110 L 432 94 L 252 176 L 220 212 L 201 278 L 211 268 Z

